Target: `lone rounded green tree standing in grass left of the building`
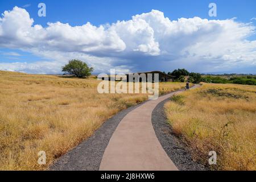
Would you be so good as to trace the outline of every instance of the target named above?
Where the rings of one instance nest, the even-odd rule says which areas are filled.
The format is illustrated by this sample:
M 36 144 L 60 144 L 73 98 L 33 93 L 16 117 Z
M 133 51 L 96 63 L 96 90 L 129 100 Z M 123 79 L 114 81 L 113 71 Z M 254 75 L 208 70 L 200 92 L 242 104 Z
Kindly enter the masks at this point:
M 66 64 L 62 68 L 62 71 L 74 75 L 76 77 L 82 78 L 90 76 L 93 71 L 93 68 L 89 68 L 88 65 L 82 62 L 81 60 L 72 59 L 69 60 L 68 64 Z

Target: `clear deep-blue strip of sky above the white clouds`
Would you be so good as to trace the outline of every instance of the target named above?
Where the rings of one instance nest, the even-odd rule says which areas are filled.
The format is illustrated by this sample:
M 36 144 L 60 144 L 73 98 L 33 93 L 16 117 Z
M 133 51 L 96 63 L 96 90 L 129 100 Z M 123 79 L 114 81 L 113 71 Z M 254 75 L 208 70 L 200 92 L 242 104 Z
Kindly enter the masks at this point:
M 46 18 L 38 16 L 38 4 L 47 5 Z M 217 17 L 209 17 L 208 5 L 214 2 L 217 5 Z M 0 11 L 11 10 L 14 6 L 25 7 L 34 18 L 35 23 L 46 26 L 47 22 L 69 23 L 72 26 L 82 25 L 86 22 L 98 26 L 105 23 L 114 23 L 117 20 L 129 20 L 131 16 L 151 11 L 152 9 L 164 12 L 170 19 L 200 18 L 227 19 L 237 17 L 238 21 L 250 22 L 256 15 L 256 1 L 254 0 L 74 0 L 74 1 L 1 1 Z

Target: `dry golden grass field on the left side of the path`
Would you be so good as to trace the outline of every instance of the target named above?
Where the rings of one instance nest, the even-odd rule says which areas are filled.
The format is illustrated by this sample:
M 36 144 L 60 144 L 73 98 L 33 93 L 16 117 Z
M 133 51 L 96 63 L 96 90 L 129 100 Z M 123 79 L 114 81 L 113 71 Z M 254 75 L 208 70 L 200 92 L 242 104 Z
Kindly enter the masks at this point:
M 43 170 L 146 94 L 98 94 L 96 78 L 0 71 L 0 170 Z M 160 83 L 160 93 L 184 83 Z M 38 152 L 47 164 L 39 166 Z

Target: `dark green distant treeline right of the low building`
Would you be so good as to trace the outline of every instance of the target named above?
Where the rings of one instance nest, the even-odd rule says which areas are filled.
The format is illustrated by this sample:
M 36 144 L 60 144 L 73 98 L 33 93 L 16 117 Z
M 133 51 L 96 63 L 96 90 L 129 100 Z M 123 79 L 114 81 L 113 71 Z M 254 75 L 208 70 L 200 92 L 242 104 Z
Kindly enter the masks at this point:
M 188 72 L 186 69 L 175 69 L 172 72 L 168 72 L 168 75 L 174 76 L 175 81 L 180 82 L 208 82 L 214 84 L 242 84 L 242 85 L 256 85 L 255 75 L 237 75 L 223 74 L 223 75 L 204 75 L 201 73 Z

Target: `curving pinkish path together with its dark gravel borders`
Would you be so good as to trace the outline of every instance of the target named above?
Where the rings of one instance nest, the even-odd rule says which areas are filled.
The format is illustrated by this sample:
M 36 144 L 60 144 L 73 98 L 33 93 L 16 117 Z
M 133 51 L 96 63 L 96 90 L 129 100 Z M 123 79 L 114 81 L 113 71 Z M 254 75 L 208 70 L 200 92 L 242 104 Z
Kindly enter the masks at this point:
M 194 88 L 198 86 L 200 85 Z M 201 170 L 192 158 L 184 155 L 185 150 L 180 151 L 179 143 L 162 133 L 158 126 L 165 123 L 162 118 L 164 102 L 182 91 L 172 92 L 159 97 L 158 100 L 145 101 L 141 105 L 120 111 L 104 122 L 92 137 L 57 159 L 49 170 L 177 170 L 177 167 L 181 170 Z M 163 127 L 170 129 L 169 126 Z M 162 135 L 160 138 L 159 131 Z

